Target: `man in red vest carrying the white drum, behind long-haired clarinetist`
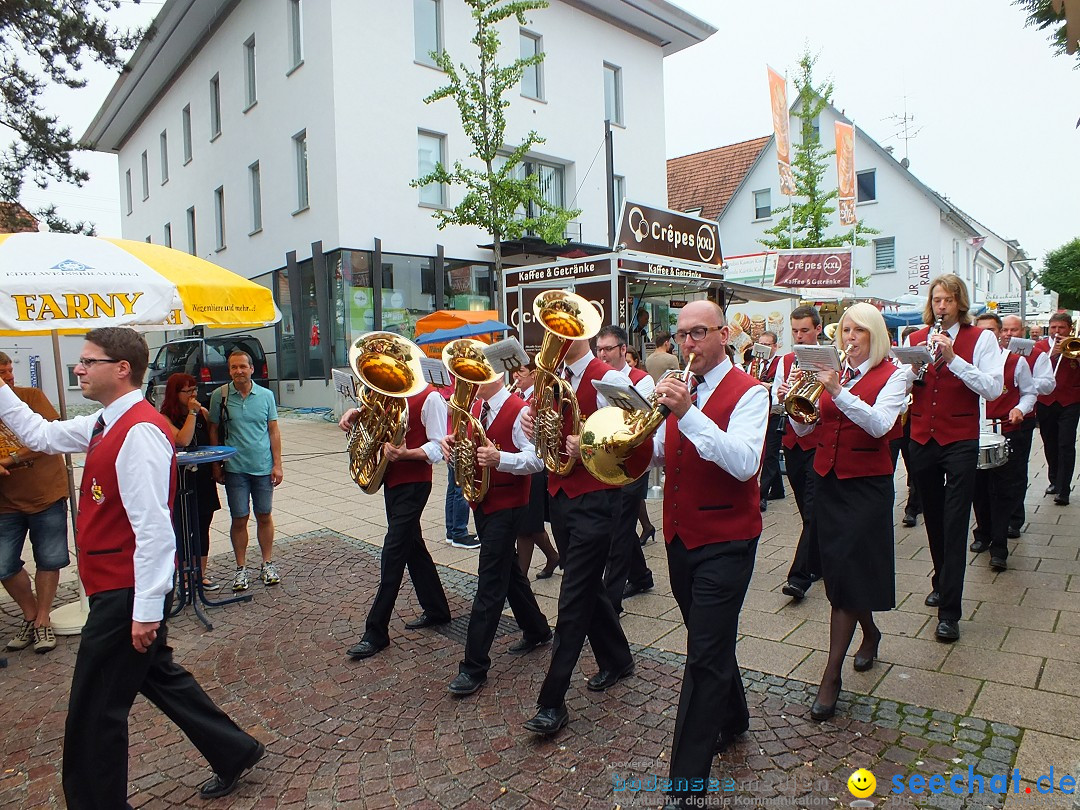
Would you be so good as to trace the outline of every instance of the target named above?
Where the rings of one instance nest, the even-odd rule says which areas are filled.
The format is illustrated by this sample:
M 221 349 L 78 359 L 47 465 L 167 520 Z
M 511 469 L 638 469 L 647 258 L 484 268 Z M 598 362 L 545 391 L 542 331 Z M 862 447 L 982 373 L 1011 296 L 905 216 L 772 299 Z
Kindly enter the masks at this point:
M 986 312 L 975 319 L 975 325 L 1001 339 L 1001 319 Z M 986 418 L 1001 426 L 1009 442 L 1009 457 L 1001 467 L 975 471 L 975 529 L 970 551 L 982 554 L 989 549 L 990 568 L 1003 571 L 1009 567 L 1009 516 L 1016 502 L 1024 500 L 1027 457 L 1031 451 L 1031 431 L 1025 430 L 1027 417 L 1035 410 L 1035 380 L 1027 360 L 1001 349 L 1004 359 L 1004 393 L 986 403 Z

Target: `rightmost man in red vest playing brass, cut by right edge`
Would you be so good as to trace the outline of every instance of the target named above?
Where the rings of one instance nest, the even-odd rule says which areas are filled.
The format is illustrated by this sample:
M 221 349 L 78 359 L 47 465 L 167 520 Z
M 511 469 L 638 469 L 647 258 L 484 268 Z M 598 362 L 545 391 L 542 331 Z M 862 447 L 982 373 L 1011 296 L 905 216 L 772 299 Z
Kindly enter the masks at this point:
M 1056 384 L 1052 393 L 1039 397 L 1036 411 L 1042 451 L 1047 456 L 1047 495 L 1065 507 L 1072 490 L 1072 470 L 1077 460 L 1077 422 L 1080 420 L 1080 360 L 1066 357 L 1062 342 L 1072 334 L 1072 319 L 1066 312 L 1050 316 L 1050 335 L 1036 346 L 1050 353 Z

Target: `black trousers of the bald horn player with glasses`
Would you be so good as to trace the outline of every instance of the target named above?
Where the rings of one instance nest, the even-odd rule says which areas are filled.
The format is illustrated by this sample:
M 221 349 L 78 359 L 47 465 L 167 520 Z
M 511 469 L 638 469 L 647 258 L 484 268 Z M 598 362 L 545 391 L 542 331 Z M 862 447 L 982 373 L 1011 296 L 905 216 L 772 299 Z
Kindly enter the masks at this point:
M 686 623 L 686 670 L 675 717 L 671 778 L 704 780 L 723 733 L 746 730 L 750 710 L 743 689 L 735 637 L 757 538 L 687 549 L 676 536 L 667 545 L 672 593 Z M 685 786 L 684 786 L 685 787 Z M 673 789 L 673 797 L 705 791 Z

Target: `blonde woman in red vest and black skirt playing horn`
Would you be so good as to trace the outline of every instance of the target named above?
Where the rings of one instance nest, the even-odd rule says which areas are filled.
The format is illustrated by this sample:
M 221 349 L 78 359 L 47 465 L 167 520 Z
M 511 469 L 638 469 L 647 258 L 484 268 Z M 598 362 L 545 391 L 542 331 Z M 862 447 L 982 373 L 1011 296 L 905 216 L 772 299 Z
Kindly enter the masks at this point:
M 889 360 L 889 330 L 876 307 L 855 303 L 840 318 L 836 346 L 847 352 L 840 374 L 818 372 L 825 390 L 821 418 L 800 436 L 816 442 L 814 511 L 825 594 L 832 605 L 828 661 L 810 708 L 815 720 L 836 713 L 843 659 L 858 623 L 863 640 L 854 669 L 874 665 L 881 631 L 875 610 L 892 610 L 895 597 L 892 507 L 893 462 L 889 434 L 907 399 L 907 372 Z

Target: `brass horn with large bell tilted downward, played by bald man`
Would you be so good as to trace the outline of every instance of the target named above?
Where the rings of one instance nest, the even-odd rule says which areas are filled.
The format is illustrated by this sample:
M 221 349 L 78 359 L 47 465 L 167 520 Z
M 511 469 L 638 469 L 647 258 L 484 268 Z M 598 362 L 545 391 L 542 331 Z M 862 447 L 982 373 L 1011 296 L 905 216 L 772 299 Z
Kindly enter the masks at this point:
M 687 355 L 686 368 L 669 372 L 689 384 L 693 354 Z M 623 410 L 615 405 L 600 408 L 581 426 L 581 463 L 597 481 L 613 486 L 626 486 L 642 477 L 652 459 L 651 448 L 642 448 L 664 423 L 671 410 L 660 405 L 653 393 L 650 410 Z

